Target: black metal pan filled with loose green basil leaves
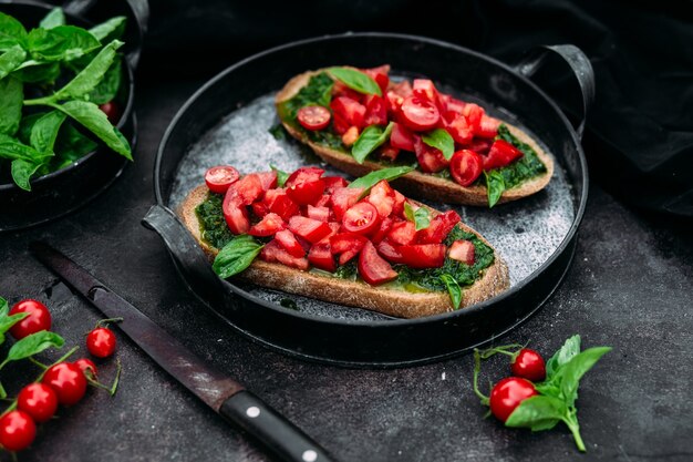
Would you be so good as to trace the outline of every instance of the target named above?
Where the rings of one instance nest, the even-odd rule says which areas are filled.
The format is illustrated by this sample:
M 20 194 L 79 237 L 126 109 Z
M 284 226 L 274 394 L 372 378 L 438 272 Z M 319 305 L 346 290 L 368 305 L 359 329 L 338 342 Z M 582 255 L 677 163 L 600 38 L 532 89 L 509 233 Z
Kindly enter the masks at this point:
M 74 0 L 63 4 L 63 9 L 68 23 L 81 27 L 89 27 L 116 14 L 128 18 L 124 38 L 127 41 L 124 80 L 122 91 L 116 96 L 123 112 L 116 126 L 134 148 L 137 121 L 133 110 L 133 70 L 139 60 L 148 4 L 146 0 L 121 1 L 116 2 L 121 7 L 118 9 L 114 3 L 102 0 L 97 4 L 94 0 Z M 0 1 L 0 11 L 14 17 L 28 29 L 35 27 L 52 8 L 52 4 L 31 1 Z M 32 179 L 31 192 L 21 189 L 11 179 L 9 183 L 0 183 L 0 233 L 45 223 L 74 211 L 108 187 L 126 164 L 125 157 L 100 146 L 65 168 Z

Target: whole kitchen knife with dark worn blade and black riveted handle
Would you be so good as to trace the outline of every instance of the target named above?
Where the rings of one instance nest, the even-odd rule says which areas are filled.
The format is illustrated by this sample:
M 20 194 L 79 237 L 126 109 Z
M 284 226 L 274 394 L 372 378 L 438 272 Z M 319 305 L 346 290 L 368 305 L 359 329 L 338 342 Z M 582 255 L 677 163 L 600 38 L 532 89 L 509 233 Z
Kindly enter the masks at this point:
M 117 326 L 157 365 L 215 412 L 255 437 L 272 454 L 289 462 L 334 460 L 269 404 L 240 383 L 205 365 L 178 340 L 80 265 L 48 244 L 32 243 L 30 248 L 41 263 L 86 297 L 106 317 L 123 318 Z

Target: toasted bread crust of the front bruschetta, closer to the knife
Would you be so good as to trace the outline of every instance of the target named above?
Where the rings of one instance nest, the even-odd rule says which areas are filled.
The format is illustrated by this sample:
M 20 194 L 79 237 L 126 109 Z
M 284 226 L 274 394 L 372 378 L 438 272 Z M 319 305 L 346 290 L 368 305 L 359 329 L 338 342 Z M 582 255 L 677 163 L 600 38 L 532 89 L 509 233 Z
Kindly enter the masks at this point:
M 178 209 L 183 223 L 193 234 L 210 260 L 219 251 L 201 239 L 200 224 L 195 208 L 207 198 L 208 189 L 200 185 L 193 189 Z M 465 230 L 479 236 L 474 229 L 459 224 Z M 488 243 L 482 237 L 482 240 Z M 244 273 L 242 280 L 270 289 L 298 294 L 319 300 L 365 308 L 400 318 L 418 318 L 453 310 L 447 292 L 410 292 L 391 287 L 374 287 L 289 268 L 281 264 L 256 259 Z M 484 270 L 483 277 L 463 289 L 461 307 L 467 307 L 494 297 L 509 287 L 508 268 L 496 254 L 495 261 Z

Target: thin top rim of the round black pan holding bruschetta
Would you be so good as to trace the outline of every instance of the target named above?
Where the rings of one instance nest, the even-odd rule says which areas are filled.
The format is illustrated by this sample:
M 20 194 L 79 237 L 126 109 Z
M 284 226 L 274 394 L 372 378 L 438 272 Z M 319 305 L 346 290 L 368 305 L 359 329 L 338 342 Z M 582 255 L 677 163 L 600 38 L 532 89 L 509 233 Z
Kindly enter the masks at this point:
M 560 245 L 556 248 L 556 250 L 534 271 L 531 271 L 528 276 L 526 276 L 521 281 L 519 281 L 516 286 L 511 287 L 510 289 L 504 291 L 500 295 L 497 295 L 488 300 L 484 300 L 479 304 L 475 304 L 470 307 L 467 308 L 463 308 L 456 311 L 449 311 L 449 312 L 445 312 L 445 314 L 439 314 L 439 315 L 432 315 L 432 316 L 426 316 L 423 318 L 414 318 L 414 319 L 387 319 L 387 320 L 353 320 L 353 319 L 335 319 L 335 318 L 327 318 L 324 316 L 317 316 L 317 315 L 309 315 L 309 314 L 303 314 L 303 312 L 297 312 L 296 310 L 291 310 L 288 308 L 285 308 L 278 304 L 273 304 L 269 300 L 262 299 L 260 297 L 254 296 L 252 294 L 249 294 L 248 291 L 241 289 L 240 287 L 227 281 L 223 279 L 223 284 L 224 287 L 228 290 L 230 290 L 232 294 L 238 295 L 242 298 L 245 298 L 246 300 L 249 300 L 251 302 L 261 305 L 265 308 L 268 309 L 272 309 L 272 310 L 278 310 L 285 315 L 291 316 L 291 317 L 296 317 L 306 321 L 311 321 L 311 322 L 318 322 L 318 324 L 328 324 L 328 325 L 341 325 L 341 326 L 358 326 L 358 327 L 370 327 L 370 328 L 389 328 L 389 327 L 393 327 L 393 326 L 418 326 L 418 325 L 424 325 L 424 324 L 433 324 L 436 321 L 444 321 L 444 320 L 451 320 L 451 319 L 456 319 L 456 318 L 462 318 L 464 316 L 466 316 L 467 314 L 474 314 L 476 311 L 479 310 L 484 310 L 486 309 L 488 306 L 496 304 L 497 301 L 500 301 L 505 298 L 511 297 L 515 294 L 517 294 L 518 291 L 521 291 L 525 286 L 527 284 L 529 284 L 531 280 L 536 279 L 537 277 L 539 277 L 542 273 L 545 273 L 549 266 L 551 266 L 551 264 L 559 257 L 559 255 L 561 255 L 562 253 L 565 253 L 567 250 L 567 248 L 572 244 L 573 239 L 576 238 L 576 235 L 578 233 L 580 223 L 582 222 L 582 217 L 585 215 L 585 209 L 587 206 L 587 197 L 588 197 L 588 193 L 589 193 L 589 175 L 588 175 L 588 170 L 587 170 L 587 160 L 585 157 L 585 152 L 582 151 L 582 146 L 580 144 L 580 141 L 578 138 L 578 135 L 575 131 L 575 129 L 572 127 L 572 125 L 570 124 L 570 122 L 568 121 L 568 117 L 563 114 L 563 112 L 560 110 L 560 107 L 556 104 L 556 102 L 549 97 L 540 88 L 538 88 L 534 82 L 531 82 L 531 80 L 527 79 L 526 76 L 519 74 L 516 70 L 514 70 L 511 66 L 509 66 L 508 64 L 505 64 L 494 58 L 490 58 L 488 55 L 485 55 L 483 53 L 469 50 L 467 48 L 461 47 L 461 45 L 456 45 L 454 43 L 449 43 L 449 42 L 445 42 L 442 40 L 437 40 L 437 39 L 432 39 L 432 38 L 427 38 L 427 37 L 421 37 L 421 35 L 412 35 L 412 34 L 403 34 L 403 33 L 390 33 L 390 32 L 346 32 L 346 33 L 341 33 L 341 34 L 327 34 L 327 35 L 321 35 L 321 37 L 316 37 L 316 38 L 310 38 L 310 39 L 303 39 L 303 40 L 298 40 L 298 41 L 293 41 L 290 43 L 286 43 L 279 47 L 275 47 L 271 48 L 269 50 L 265 50 L 261 51 L 259 53 L 256 53 L 251 57 L 245 58 L 241 61 L 238 61 L 235 64 L 231 64 L 230 66 L 226 68 L 225 70 L 223 70 L 221 72 L 219 72 L 218 74 L 216 74 L 215 76 L 213 76 L 211 79 L 209 79 L 207 82 L 205 82 L 197 91 L 195 91 L 195 93 L 193 93 L 193 95 L 190 95 L 188 97 L 188 100 L 186 100 L 186 102 L 180 106 L 180 109 L 176 112 L 176 114 L 174 115 L 174 117 L 172 119 L 170 123 L 168 124 L 168 126 L 166 127 L 166 131 L 162 137 L 162 141 L 159 142 L 159 146 L 156 153 L 156 158 L 154 162 L 154 194 L 156 197 L 156 202 L 158 205 L 166 207 L 166 204 L 164 202 L 163 195 L 162 195 L 162 191 L 161 191 L 161 182 L 159 182 L 159 177 L 161 177 L 161 172 L 162 172 L 162 160 L 164 156 L 164 151 L 166 148 L 166 145 L 168 144 L 168 140 L 170 138 L 170 136 L 173 135 L 174 131 L 177 129 L 177 125 L 180 121 L 180 119 L 184 116 L 184 114 L 188 111 L 188 109 L 190 106 L 193 106 L 196 101 L 213 85 L 215 85 L 218 81 L 220 81 L 221 79 L 224 79 L 227 74 L 236 71 L 237 69 L 257 60 L 260 58 L 265 58 L 269 54 L 273 54 L 273 53 L 278 53 L 281 52 L 286 49 L 290 49 L 290 48 L 294 48 L 294 47 L 301 47 L 304 44 L 310 44 L 310 43 L 316 43 L 316 42 L 322 42 L 322 41 L 330 41 L 330 40 L 349 40 L 349 39 L 360 39 L 360 38 L 386 38 L 386 39 L 399 39 L 399 40 L 408 40 L 408 41 L 416 41 L 416 42 L 426 42 L 433 45 L 437 45 L 437 47 L 442 47 L 442 48 L 447 48 L 461 53 L 466 53 L 466 54 L 470 54 L 474 55 L 475 58 L 479 59 L 479 60 L 484 60 L 487 61 L 498 68 L 501 68 L 503 70 L 505 70 L 506 72 L 509 72 L 514 75 L 516 75 L 517 78 L 519 78 L 520 80 L 524 81 L 524 83 L 528 84 L 536 93 L 538 96 L 542 97 L 545 100 L 546 103 L 549 104 L 549 106 L 554 110 L 555 115 L 557 115 L 559 117 L 559 120 L 561 121 L 562 125 L 565 125 L 565 127 L 568 130 L 568 133 L 570 134 L 570 140 L 576 148 L 576 152 L 578 153 L 578 157 L 579 157 L 579 164 L 580 164 L 580 168 L 582 171 L 582 191 L 580 194 L 580 197 L 578 198 L 578 207 L 576 209 L 576 215 L 575 218 L 572 220 L 572 224 L 570 226 L 570 229 L 568 230 L 568 233 L 566 234 L 566 236 L 563 237 L 563 239 L 561 240 Z M 568 265 L 569 267 L 570 265 Z M 557 285 L 558 287 L 558 285 Z M 532 309 L 530 311 L 530 314 L 526 317 L 528 318 L 529 316 L 531 316 L 531 314 L 536 312 L 541 306 L 542 306 L 544 301 L 538 304 L 537 307 L 535 309 Z M 525 319 L 526 319 L 525 318 Z M 519 322 L 514 324 L 513 326 L 510 326 L 508 328 L 513 329 L 515 326 L 517 326 L 518 324 L 523 322 L 523 320 L 520 320 Z M 245 331 L 245 330 L 244 330 Z M 507 331 L 507 330 L 506 330 Z M 254 338 L 256 338 L 256 336 L 252 336 Z M 262 340 L 265 341 L 265 340 Z M 276 347 L 273 343 L 270 343 L 273 348 L 278 348 Z M 283 349 L 282 349 L 283 350 Z

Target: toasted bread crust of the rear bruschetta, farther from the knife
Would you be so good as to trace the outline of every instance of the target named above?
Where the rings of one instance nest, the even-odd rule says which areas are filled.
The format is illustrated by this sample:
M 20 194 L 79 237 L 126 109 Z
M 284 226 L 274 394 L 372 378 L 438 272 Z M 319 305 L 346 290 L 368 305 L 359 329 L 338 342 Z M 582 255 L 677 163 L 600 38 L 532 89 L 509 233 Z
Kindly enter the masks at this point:
M 299 92 L 299 90 L 308 84 L 308 81 L 311 76 L 320 72 L 323 72 L 323 70 L 304 72 L 291 79 L 289 82 L 287 82 L 285 88 L 279 93 L 277 93 L 275 104 L 282 103 L 293 97 Z M 384 168 L 383 165 L 372 161 L 364 161 L 363 164 L 359 164 L 350 154 L 339 152 L 314 143 L 308 140 L 300 131 L 296 130 L 286 121 L 281 121 L 281 123 L 291 136 L 293 136 L 301 143 L 308 144 L 320 158 L 352 176 L 363 176 L 366 173 L 373 172 L 375 170 Z M 517 201 L 519 198 L 527 197 L 541 191 L 544 187 L 546 187 L 546 185 L 551 179 L 551 176 L 554 175 L 554 158 L 551 157 L 551 155 L 548 154 L 544 148 L 541 148 L 539 144 L 523 130 L 505 121 L 503 123 L 508 127 L 513 135 L 515 135 L 521 142 L 529 144 L 535 150 L 544 165 L 546 165 L 547 172 L 525 183 L 521 183 L 516 187 L 504 191 L 500 199 L 498 201 L 498 204 Z M 425 197 L 448 204 L 465 204 L 477 206 L 488 205 L 486 186 L 483 185 L 464 187 L 452 179 L 441 178 L 438 176 L 418 171 L 411 172 L 403 177 L 394 181 L 393 183 L 394 186 L 402 189 L 403 192 L 416 195 L 417 197 Z

